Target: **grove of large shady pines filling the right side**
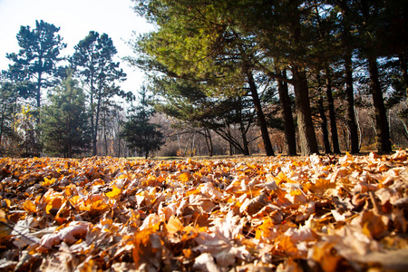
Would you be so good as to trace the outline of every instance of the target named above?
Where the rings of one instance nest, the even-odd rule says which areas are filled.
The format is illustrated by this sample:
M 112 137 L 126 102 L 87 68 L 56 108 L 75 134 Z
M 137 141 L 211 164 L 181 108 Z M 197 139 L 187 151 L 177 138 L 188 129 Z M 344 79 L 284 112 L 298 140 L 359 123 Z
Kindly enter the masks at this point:
M 406 146 L 407 1 L 133 2 L 157 27 L 128 61 L 209 154 L 214 137 L 243 154 Z

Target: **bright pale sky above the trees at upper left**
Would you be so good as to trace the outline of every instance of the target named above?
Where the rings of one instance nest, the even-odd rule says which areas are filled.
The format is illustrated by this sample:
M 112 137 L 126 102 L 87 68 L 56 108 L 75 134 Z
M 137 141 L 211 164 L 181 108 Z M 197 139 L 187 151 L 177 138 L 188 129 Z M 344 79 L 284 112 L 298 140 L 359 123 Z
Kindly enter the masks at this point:
M 90 31 L 106 33 L 112 37 L 118 50 L 118 59 L 132 55 L 126 44 L 133 32 L 141 34 L 152 29 L 150 24 L 131 9 L 131 0 L 0 0 L 0 70 L 8 68 L 5 53 L 17 53 L 16 34 L 21 25 L 35 27 L 35 20 L 44 20 L 61 27 L 59 34 L 67 48 L 63 55 L 73 53 Z M 135 92 L 143 81 L 143 73 L 122 62 L 121 68 L 128 74 L 122 89 Z

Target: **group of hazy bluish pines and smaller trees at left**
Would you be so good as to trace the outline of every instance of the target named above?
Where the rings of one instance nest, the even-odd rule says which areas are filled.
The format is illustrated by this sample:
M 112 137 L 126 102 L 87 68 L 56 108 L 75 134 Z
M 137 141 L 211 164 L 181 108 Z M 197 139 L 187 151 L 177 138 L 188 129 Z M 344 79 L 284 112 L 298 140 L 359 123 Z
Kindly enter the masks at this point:
M 59 30 L 44 21 L 21 26 L 19 52 L 6 54 L 11 64 L 0 81 L 0 156 L 129 153 L 121 140 L 123 102 L 134 95 L 119 85 L 126 74 L 113 60 L 112 39 L 91 31 L 63 57 Z

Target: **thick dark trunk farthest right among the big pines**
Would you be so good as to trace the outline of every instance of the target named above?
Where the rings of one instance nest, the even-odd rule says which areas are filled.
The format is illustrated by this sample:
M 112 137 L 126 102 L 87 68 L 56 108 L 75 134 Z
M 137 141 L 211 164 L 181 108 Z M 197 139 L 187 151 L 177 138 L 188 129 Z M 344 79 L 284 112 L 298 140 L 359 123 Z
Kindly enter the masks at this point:
M 379 153 L 389 153 L 392 151 L 390 130 L 384 106 L 383 92 L 378 78 L 377 60 L 373 56 L 368 57 L 368 71 L 370 73 L 370 89 L 374 103 L 377 150 Z

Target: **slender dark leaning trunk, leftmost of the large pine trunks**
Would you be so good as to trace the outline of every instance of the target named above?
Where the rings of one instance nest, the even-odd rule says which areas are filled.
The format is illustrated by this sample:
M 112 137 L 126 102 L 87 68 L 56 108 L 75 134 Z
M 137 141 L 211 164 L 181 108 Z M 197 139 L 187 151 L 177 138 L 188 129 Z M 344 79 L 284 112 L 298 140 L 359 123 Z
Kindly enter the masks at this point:
M 255 84 L 254 76 L 252 75 L 252 72 L 247 71 L 247 77 L 248 77 L 249 90 L 252 96 L 252 101 L 254 102 L 255 111 L 257 112 L 257 121 L 259 123 L 259 127 L 261 130 L 265 152 L 267 153 L 267 156 L 275 156 L 274 150 L 272 148 L 272 143 L 270 142 L 269 132 L 267 131 L 267 120 L 265 119 L 264 112 L 262 111 L 262 106 L 259 100 L 259 96 L 257 94 L 257 85 Z

